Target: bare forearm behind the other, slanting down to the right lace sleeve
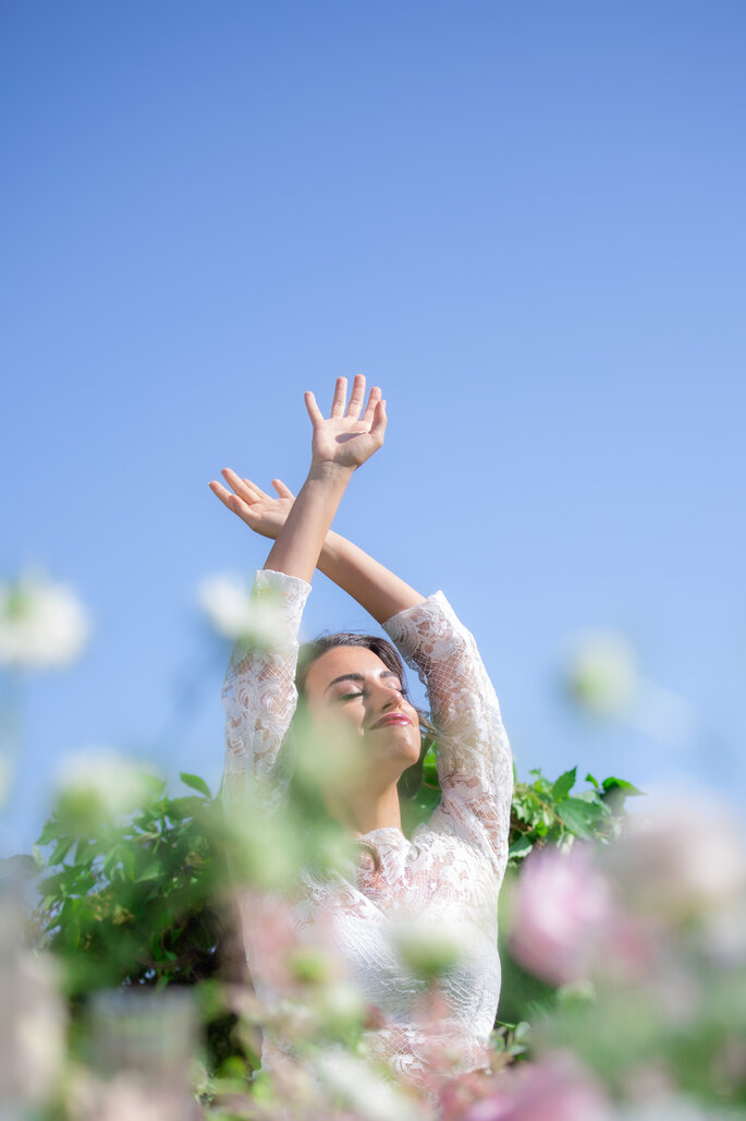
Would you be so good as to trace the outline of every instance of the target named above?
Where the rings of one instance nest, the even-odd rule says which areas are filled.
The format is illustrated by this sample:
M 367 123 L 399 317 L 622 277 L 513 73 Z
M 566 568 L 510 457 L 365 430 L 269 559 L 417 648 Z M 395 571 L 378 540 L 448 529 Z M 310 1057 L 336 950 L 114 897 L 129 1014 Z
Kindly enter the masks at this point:
M 318 557 L 318 568 L 357 600 L 379 623 L 384 623 L 399 611 L 413 608 L 425 599 L 389 568 L 334 530 L 326 535 Z

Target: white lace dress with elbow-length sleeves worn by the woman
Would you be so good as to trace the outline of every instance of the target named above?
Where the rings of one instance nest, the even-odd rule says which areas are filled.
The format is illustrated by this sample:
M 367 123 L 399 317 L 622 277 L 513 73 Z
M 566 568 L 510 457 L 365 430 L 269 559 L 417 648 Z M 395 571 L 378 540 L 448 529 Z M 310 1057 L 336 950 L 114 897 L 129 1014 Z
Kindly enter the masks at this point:
M 309 591 L 297 577 L 257 573 L 253 594 L 271 604 L 274 641 L 271 650 L 237 645 L 229 665 L 229 806 L 240 807 L 246 784 L 270 813 L 287 795 L 290 767 L 282 749 L 297 703 L 298 628 Z M 348 978 L 376 1010 L 379 1026 L 367 1037 L 375 1057 L 414 1076 L 446 1058 L 453 1071 L 476 1069 L 486 1059 L 500 995 L 497 892 L 507 860 L 510 747 L 474 638 L 441 592 L 393 615 L 384 630 L 427 686 L 441 802 L 411 840 L 395 827 L 365 834 L 348 877 L 321 879 L 299 870 L 293 924 L 301 936 L 323 926 Z M 425 999 L 425 981 L 412 976 L 400 954 L 398 932 L 412 917 L 429 929 L 458 930 L 467 947 L 460 964 L 439 979 L 435 1004 L 432 991 Z M 243 897 L 242 918 L 254 985 L 270 1007 L 280 994 L 272 991 L 271 971 L 259 975 L 263 919 L 255 893 Z M 276 1047 L 282 1051 L 282 1041 L 265 1036 L 264 1066 L 271 1066 Z

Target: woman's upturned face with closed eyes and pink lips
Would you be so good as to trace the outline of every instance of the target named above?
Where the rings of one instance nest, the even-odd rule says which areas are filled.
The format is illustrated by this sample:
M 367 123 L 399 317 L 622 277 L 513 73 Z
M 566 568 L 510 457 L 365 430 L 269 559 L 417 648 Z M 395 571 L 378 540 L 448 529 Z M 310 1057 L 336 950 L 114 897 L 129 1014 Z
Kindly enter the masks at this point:
M 418 761 L 417 710 L 403 696 L 401 679 L 372 650 L 326 650 L 308 670 L 306 701 L 315 723 L 344 730 L 357 742 L 365 769 L 370 763 L 395 781 Z

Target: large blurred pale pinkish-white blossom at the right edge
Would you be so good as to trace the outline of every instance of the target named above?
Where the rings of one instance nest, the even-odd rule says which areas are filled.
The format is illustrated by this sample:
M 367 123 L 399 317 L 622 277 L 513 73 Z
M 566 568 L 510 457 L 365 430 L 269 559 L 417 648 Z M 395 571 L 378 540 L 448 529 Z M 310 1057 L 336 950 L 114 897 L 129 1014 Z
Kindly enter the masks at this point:
M 630 817 L 610 864 L 633 906 L 674 920 L 736 906 L 746 850 L 733 807 L 688 795 Z M 724 928 L 725 934 L 725 928 Z

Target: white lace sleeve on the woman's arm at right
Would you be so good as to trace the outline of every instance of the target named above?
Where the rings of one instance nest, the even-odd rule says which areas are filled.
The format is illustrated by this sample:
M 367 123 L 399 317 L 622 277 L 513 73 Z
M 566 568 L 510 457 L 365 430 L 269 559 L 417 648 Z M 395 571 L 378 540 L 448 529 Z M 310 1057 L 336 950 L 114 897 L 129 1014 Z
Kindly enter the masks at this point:
M 440 805 L 430 828 L 488 852 L 500 876 L 507 862 L 513 766 L 492 682 L 474 636 L 442 592 L 400 611 L 384 630 L 427 686 L 437 730 Z

